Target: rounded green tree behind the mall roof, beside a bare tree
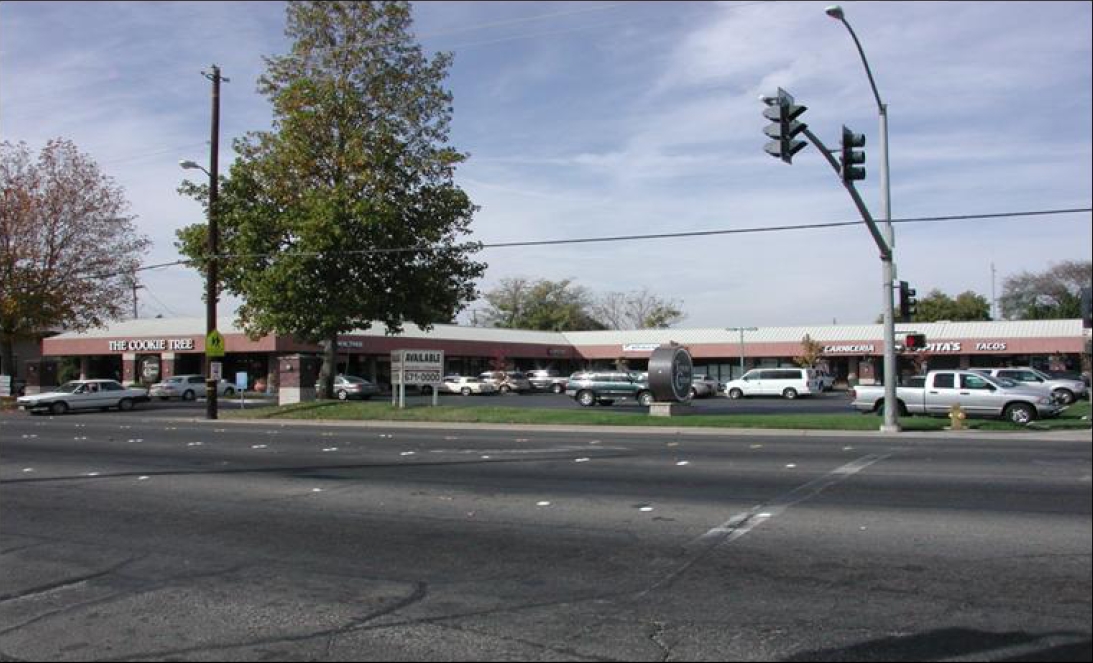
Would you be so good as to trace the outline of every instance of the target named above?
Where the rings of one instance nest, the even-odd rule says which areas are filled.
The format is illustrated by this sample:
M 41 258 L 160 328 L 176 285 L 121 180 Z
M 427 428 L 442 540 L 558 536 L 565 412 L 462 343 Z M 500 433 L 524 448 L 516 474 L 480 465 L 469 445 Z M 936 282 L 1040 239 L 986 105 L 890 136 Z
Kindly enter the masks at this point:
M 601 330 L 604 325 L 589 312 L 588 291 L 568 280 L 528 282 L 503 279 L 485 294 L 490 324 L 503 329 L 544 331 Z

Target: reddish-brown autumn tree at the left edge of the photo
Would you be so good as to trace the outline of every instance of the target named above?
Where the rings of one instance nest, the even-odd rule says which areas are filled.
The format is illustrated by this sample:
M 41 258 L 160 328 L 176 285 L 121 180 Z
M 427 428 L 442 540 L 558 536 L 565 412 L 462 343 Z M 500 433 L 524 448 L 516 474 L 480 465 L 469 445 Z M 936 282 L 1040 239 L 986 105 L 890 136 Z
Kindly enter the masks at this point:
M 125 192 L 67 140 L 34 161 L 25 143 L 0 143 L 0 363 L 19 336 L 84 331 L 125 312 L 150 240 L 126 213 Z M 14 372 L 12 372 L 14 375 Z

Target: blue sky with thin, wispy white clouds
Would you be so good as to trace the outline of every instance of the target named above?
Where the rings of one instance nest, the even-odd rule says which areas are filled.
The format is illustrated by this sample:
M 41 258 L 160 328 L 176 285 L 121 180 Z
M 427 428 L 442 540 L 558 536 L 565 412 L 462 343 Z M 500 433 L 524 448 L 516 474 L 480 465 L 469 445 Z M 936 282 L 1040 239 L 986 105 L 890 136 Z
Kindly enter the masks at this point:
M 1088 209 L 1093 58 L 1089 2 L 844 2 L 889 108 L 892 216 Z M 422 2 L 414 34 L 455 60 L 456 182 L 481 209 L 473 240 L 504 244 L 860 221 L 813 146 L 767 155 L 761 96 L 778 87 L 832 149 L 866 135 L 858 189 L 881 215 L 878 107 L 847 29 L 819 2 Z M 263 56 L 286 52 L 282 2 L 2 2 L 0 140 L 73 141 L 178 260 L 203 220 L 179 159 L 209 161 L 210 82 L 232 140 L 270 126 Z M 1093 253 L 1089 212 L 896 223 L 897 280 L 1000 296 L 1007 276 Z M 863 225 L 487 248 L 479 289 L 572 280 L 650 293 L 683 328 L 857 324 L 882 306 Z M 201 317 L 203 275 L 141 273 L 140 317 Z M 221 316 L 238 300 L 224 297 Z M 482 310 L 479 300 L 458 318 Z

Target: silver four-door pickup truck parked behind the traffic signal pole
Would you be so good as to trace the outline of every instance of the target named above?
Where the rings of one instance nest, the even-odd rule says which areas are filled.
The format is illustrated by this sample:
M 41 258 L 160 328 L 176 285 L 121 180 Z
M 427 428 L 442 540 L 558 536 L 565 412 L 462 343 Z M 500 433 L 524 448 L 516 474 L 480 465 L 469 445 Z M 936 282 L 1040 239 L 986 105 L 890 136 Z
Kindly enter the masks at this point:
M 967 416 L 999 417 L 1024 425 L 1059 414 L 1050 395 L 1002 382 L 971 370 L 931 370 L 896 388 L 900 414 L 945 416 L 960 405 Z M 884 387 L 855 387 L 851 405 L 861 412 L 882 412 Z

